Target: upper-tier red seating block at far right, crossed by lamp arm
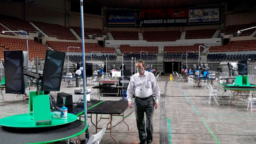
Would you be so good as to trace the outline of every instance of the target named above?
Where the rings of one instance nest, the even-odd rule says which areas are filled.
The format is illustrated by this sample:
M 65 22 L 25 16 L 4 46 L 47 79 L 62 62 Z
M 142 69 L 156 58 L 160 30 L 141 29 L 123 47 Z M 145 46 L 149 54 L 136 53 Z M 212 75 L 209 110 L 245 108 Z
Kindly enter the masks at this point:
M 234 33 L 237 33 L 237 31 L 244 30 L 244 29 L 250 28 L 250 27 L 255 27 L 255 26 L 256 26 L 256 23 L 232 25 L 232 26 L 227 26 L 227 28 L 221 30 L 220 33 L 234 34 Z M 252 32 L 254 32 L 255 30 L 256 30 L 256 28 L 246 30 L 246 31 L 242 31 L 239 36 L 251 35 Z

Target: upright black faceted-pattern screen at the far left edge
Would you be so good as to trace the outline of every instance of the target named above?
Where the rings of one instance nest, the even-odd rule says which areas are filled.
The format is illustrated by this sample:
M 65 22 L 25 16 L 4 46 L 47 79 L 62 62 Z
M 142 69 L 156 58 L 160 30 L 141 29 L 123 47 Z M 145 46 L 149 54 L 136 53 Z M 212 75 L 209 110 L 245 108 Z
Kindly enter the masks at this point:
M 23 52 L 4 51 L 5 93 L 24 94 Z

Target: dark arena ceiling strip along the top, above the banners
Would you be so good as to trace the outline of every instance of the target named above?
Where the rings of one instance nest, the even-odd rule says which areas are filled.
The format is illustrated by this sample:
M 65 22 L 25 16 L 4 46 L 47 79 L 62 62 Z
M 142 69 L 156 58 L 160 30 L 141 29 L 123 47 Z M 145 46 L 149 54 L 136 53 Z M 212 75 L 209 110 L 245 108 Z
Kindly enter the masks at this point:
M 108 8 L 166 8 L 221 4 L 226 0 L 84 0 Z

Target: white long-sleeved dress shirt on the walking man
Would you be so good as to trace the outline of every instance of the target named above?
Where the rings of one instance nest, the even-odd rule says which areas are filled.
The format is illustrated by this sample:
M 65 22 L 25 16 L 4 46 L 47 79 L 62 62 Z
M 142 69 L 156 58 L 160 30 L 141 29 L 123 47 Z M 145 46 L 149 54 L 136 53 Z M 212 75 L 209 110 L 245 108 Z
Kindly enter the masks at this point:
M 158 102 L 159 100 L 160 90 L 157 79 L 153 73 L 145 71 L 143 75 L 140 75 L 139 73 L 132 75 L 127 89 L 128 101 L 132 101 L 134 89 L 136 97 L 146 98 L 151 96 L 154 92 L 155 102 Z

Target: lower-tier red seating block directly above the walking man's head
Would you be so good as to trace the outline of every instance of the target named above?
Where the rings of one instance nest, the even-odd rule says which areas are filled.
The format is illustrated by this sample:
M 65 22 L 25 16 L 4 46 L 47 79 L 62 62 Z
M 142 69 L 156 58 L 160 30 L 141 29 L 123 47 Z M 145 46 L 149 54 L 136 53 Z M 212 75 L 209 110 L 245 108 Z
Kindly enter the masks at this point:
M 140 51 L 147 51 L 148 54 L 157 54 L 158 47 L 157 46 L 129 46 L 129 45 L 121 45 L 120 50 L 124 54 L 140 54 Z

